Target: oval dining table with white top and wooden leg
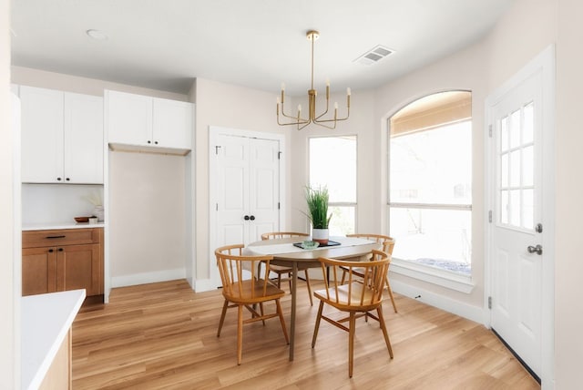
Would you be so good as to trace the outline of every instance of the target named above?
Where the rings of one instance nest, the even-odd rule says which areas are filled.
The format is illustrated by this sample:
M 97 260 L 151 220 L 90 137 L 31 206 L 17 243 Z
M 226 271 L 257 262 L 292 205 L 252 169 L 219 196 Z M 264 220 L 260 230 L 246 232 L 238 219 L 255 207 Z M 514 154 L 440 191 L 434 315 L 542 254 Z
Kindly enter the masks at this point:
M 264 240 L 251 242 L 245 248 L 248 255 L 271 255 L 271 264 L 292 267 L 292 315 L 290 319 L 290 361 L 293 360 L 295 345 L 295 320 L 296 320 L 296 289 L 298 271 L 308 268 L 321 267 L 318 259 L 327 257 L 331 259 L 360 259 L 370 251 L 380 250 L 382 245 L 375 241 L 369 241 L 355 237 L 331 237 L 329 245 L 318 246 L 313 249 L 302 248 L 302 239 L 298 237 Z M 295 244 L 295 245 L 294 245 Z

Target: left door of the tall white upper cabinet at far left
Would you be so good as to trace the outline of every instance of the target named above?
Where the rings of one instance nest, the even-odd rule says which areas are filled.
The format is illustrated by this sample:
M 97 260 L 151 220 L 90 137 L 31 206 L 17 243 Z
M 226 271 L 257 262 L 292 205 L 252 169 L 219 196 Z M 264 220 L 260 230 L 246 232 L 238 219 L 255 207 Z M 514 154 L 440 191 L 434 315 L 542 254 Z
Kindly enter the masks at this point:
M 21 86 L 20 100 L 22 181 L 63 182 L 63 92 Z

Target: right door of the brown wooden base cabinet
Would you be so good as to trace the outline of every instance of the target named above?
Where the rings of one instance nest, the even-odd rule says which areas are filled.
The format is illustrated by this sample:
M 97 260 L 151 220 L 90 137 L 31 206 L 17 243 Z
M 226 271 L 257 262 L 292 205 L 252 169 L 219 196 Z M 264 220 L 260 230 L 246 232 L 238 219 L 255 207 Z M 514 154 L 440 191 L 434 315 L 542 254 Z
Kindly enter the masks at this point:
M 57 291 L 86 289 L 87 296 L 100 293 L 99 244 L 66 245 L 56 253 Z

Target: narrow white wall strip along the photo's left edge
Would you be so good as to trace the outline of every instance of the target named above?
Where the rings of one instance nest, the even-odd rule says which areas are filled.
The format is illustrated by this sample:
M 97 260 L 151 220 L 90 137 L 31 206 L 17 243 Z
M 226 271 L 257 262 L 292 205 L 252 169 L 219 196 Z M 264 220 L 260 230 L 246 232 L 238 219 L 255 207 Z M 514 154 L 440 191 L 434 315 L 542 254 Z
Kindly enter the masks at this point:
M 15 293 L 15 137 L 10 101 L 10 2 L 0 0 L 0 388 L 20 388 L 20 297 Z M 18 284 L 19 285 L 19 284 Z

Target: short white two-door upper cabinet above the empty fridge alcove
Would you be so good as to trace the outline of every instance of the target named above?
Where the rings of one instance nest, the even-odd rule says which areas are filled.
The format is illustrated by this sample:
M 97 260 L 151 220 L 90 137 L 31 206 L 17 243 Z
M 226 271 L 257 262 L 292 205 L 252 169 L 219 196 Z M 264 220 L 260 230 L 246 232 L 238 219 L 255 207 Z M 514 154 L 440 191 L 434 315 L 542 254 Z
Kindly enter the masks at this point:
M 158 97 L 106 91 L 107 141 L 114 149 L 187 154 L 193 105 Z

